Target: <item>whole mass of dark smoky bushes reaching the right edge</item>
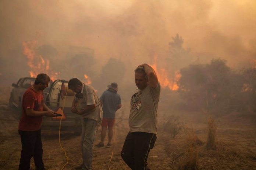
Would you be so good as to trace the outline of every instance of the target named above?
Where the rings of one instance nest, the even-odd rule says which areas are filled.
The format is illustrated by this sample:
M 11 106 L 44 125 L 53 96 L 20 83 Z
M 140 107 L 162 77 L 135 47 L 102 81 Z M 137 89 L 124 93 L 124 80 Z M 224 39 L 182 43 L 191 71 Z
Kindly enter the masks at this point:
M 226 60 L 212 59 L 207 64 L 191 64 L 180 70 L 179 94 L 183 106 L 216 116 L 231 111 L 255 111 L 256 69 L 235 71 Z

